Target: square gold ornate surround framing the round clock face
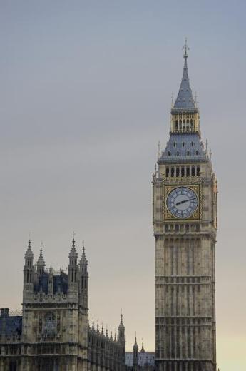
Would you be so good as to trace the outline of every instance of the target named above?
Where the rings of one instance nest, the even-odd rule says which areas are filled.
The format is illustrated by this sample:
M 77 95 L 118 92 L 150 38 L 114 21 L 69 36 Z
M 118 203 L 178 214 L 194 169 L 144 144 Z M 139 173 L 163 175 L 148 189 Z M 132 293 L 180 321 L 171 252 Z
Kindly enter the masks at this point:
M 195 192 L 195 194 L 198 197 L 198 208 L 195 210 L 193 215 L 190 215 L 188 218 L 178 218 L 175 215 L 171 214 L 168 210 L 168 206 L 167 206 L 168 195 L 170 194 L 170 192 L 172 192 L 172 190 L 174 190 L 175 188 L 180 188 L 180 186 L 190 188 L 191 190 L 193 190 L 193 192 Z M 199 184 L 192 184 L 192 185 L 191 184 L 183 184 L 183 185 L 168 184 L 168 185 L 164 185 L 163 193 L 164 193 L 163 194 L 163 220 L 175 220 L 175 221 L 180 221 L 180 222 L 183 222 L 184 220 L 186 221 L 200 220 L 201 202 L 200 202 L 200 185 Z

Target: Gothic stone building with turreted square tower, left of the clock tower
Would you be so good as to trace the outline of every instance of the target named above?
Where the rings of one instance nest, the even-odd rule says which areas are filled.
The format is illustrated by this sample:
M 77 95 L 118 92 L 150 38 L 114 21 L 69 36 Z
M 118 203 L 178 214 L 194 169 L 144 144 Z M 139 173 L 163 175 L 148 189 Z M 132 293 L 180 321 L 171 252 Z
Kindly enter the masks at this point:
M 123 371 L 125 327 L 118 337 L 88 325 L 85 250 L 78 262 L 73 239 L 67 273 L 46 270 L 43 252 L 34 265 L 26 250 L 22 315 L 0 316 L 0 371 Z

